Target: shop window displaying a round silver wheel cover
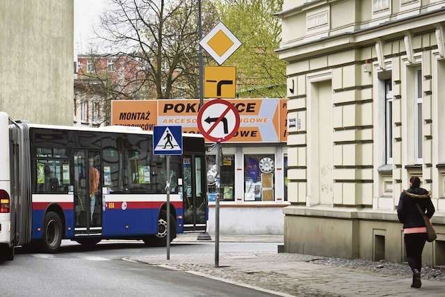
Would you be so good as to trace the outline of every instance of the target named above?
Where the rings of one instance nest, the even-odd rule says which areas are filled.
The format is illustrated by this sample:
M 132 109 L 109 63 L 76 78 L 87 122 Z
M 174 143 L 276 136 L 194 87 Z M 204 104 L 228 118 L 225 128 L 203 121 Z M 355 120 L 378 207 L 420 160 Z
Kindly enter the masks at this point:
M 273 154 L 244 156 L 244 200 L 274 200 L 275 158 Z

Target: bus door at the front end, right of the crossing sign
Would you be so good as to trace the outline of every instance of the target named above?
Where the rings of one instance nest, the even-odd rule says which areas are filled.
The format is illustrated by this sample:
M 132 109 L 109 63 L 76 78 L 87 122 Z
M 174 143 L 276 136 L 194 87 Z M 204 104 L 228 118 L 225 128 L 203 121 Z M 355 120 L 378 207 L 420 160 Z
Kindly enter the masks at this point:
M 206 231 L 207 193 L 204 156 L 184 154 L 182 158 L 184 231 Z

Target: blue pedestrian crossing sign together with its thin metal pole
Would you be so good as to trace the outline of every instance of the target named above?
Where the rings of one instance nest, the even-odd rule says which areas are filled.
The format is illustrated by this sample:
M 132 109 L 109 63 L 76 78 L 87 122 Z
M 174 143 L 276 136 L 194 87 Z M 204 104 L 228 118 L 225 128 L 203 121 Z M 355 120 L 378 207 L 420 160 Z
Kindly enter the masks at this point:
M 153 154 L 165 155 L 167 166 L 167 259 L 170 260 L 170 155 L 182 154 L 182 127 L 181 126 L 154 126 L 153 127 Z

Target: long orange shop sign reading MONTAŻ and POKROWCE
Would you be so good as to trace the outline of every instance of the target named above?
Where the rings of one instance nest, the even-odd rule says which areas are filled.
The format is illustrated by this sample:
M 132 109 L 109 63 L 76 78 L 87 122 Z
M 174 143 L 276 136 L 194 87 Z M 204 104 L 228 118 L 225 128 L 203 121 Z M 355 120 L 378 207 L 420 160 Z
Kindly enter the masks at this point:
M 228 99 L 227 101 L 234 104 L 241 120 L 238 132 L 227 143 L 286 141 L 287 99 Z M 112 101 L 111 106 L 112 125 L 136 126 L 145 130 L 152 130 L 154 125 L 180 125 L 184 133 L 200 133 L 196 122 L 200 106 L 198 99 L 117 100 Z M 143 111 L 145 115 L 141 114 Z M 150 111 L 148 120 L 147 111 Z M 157 116 L 156 121 L 152 118 L 154 114 Z

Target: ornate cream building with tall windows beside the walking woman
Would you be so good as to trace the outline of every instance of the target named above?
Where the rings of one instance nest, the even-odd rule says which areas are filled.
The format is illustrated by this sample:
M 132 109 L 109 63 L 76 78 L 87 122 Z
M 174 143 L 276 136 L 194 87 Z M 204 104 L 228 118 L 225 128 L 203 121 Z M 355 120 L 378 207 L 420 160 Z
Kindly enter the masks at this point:
M 445 264 L 445 1 L 284 0 L 289 63 L 284 250 L 405 262 L 396 208 L 432 191 Z

